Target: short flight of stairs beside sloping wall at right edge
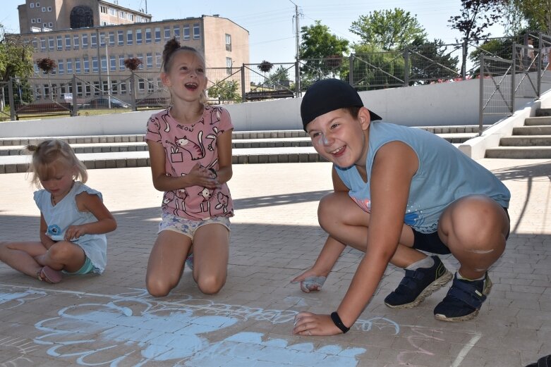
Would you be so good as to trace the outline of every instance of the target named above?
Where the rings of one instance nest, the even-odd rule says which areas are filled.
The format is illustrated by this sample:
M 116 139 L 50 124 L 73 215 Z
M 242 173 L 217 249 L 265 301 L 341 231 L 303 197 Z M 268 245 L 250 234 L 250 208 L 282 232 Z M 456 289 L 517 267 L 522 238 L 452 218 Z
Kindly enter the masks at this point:
M 540 108 L 513 135 L 502 137 L 499 147 L 486 149 L 486 158 L 551 158 L 551 108 Z

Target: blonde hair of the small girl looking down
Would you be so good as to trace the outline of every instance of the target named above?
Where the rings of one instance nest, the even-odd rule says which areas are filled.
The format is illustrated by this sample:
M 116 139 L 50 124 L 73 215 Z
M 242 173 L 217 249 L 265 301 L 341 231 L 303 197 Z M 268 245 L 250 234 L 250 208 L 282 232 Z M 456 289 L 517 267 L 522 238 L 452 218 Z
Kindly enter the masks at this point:
M 27 150 L 32 152 L 32 161 L 29 172 L 32 173 L 31 182 L 40 187 L 40 180 L 48 180 L 53 175 L 54 164 L 61 162 L 68 168 L 75 168 L 73 180 L 85 183 L 88 180 L 86 166 L 75 156 L 75 151 L 67 142 L 60 139 L 47 139 L 38 145 L 28 145 Z

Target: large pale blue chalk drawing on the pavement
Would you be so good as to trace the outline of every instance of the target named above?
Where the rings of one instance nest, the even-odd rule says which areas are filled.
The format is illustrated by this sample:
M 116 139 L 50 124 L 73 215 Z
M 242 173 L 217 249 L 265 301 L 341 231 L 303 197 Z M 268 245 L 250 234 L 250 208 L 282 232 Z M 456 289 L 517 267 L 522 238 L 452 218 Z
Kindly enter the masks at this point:
M 35 324 L 34 342 L 47 354 L 81 366 L 357 366 L 364 348 L 299 342 L 243 331 L 246 321 L 292 323 L 297 311 L 217 304 L 178 294 L 159 301 L 145 290 L 60 309 Z M 97 297 L 95 297 L 97 301 Z M 360 321 L 358 330 L 399 325 L 385 318 Z M 329 340 L 328 340 L 329 341 Z

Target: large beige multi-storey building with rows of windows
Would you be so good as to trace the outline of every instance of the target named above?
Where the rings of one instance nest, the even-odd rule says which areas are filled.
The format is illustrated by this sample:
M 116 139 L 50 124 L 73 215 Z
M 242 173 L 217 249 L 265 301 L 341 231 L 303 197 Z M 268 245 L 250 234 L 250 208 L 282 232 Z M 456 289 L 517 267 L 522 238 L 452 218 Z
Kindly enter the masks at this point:
M 43 75 L 35 63 L 31 84 L 37 100 L 111 94 L 128 102 L 127 58 L 143 62 L 135 97 L 150 96 L 162 87 L 162 50 L 172 37 L 205 55 L 211 81 L 231 78 L 233 68 L 249 62 L 248 31 L 219 15 L 152 22 L 152 15 L 102 0 L 27 0 L 18 11 L 20 37 L 32 44 L 33 60 L 52 58 L 57 64 L 52 75 Z

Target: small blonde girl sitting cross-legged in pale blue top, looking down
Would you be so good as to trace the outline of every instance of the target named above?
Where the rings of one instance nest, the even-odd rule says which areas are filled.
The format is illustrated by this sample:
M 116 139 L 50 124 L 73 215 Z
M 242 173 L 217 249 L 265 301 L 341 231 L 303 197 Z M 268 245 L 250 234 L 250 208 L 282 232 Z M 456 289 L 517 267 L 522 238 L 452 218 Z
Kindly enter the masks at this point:
M 49 283 L 61 280 L 61 270 L 101 274 L 107 263 L 105 233 L 116 228 L 102 194 L 84 185 L 86 168 L 66 142 L 47 139 L 28 150 L 32 183 L 43 187 L 34 194 L 40 242 L 1 242 L 0 261 Z

